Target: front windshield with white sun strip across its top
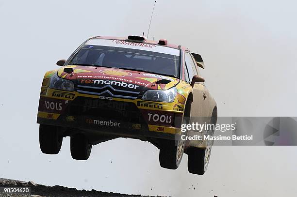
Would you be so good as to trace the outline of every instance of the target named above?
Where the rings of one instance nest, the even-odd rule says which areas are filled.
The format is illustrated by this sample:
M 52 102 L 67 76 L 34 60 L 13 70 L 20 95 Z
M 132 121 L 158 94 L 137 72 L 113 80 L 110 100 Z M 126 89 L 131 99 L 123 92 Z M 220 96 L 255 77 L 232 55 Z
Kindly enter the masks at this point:
M 130 69 L 174 77 L 179 74 L 179 49 L 118 40 L 90 41 L 81 47 L 68 65 Z

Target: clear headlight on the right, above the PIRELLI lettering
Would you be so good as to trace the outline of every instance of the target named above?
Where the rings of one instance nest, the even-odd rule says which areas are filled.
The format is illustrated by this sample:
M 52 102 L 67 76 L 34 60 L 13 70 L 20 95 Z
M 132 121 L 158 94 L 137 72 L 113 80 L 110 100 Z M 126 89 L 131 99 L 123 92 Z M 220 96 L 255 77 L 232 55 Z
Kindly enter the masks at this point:
M 160 102 L 167 102 L 171 103 L 174 101 L 174 98 L 177 94 L 177 89 L 176 87 L 170 88 L 169 90 L 162 91 L 162 90 L 157 90 L 157 91 L 146 91 L 143 96 L 142 100 L 147 100 L 147 101 L 160 101 Z

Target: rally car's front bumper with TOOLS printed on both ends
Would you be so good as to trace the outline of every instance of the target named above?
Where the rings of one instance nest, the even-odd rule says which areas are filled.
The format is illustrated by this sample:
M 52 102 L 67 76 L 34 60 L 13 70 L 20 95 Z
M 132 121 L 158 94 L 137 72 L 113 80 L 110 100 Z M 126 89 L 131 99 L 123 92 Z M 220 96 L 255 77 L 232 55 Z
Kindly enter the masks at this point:
M 73 100 L 40 96 L 37 123 L 132 138 L 175 139 L 180 129 L 175 118 L 182 113 L 162 110 L 160 105 L 143 105 L 137 99 L 99 99 L 76 96 Z M 151 102 L 150 102 L 151 103 Z M 142 108 L 141 108 L 142 107 Z M 162 117 L 162 118 L 161 118 Z M 158 120 L 158 121 L 156 121 Z

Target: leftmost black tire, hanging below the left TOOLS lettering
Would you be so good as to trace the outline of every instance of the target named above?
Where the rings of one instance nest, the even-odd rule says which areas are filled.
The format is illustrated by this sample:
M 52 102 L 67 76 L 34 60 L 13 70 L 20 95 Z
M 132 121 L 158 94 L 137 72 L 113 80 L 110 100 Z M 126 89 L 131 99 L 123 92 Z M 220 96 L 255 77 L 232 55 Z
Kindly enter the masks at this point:
M 39 125 L 39 146 L 45 154 L 58 154 L 61 150 L 63 136 L 60 136 L 57 127 L 52 125 Z

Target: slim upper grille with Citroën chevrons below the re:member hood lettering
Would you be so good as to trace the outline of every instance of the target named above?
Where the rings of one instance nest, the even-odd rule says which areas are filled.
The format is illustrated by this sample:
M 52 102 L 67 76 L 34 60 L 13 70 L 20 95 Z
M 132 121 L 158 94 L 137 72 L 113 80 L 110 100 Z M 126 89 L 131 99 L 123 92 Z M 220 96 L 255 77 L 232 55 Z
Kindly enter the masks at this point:
M 78 85 L 76 87 L 76 91 L 80 93 L 85 93 L 85 94 L 95 94 L 100 96 L 126 98 L 126 99 L 136 99 L 139 97 L 139 92 L 116 90 L 110 85 L 106 85 L 104 87 Z

